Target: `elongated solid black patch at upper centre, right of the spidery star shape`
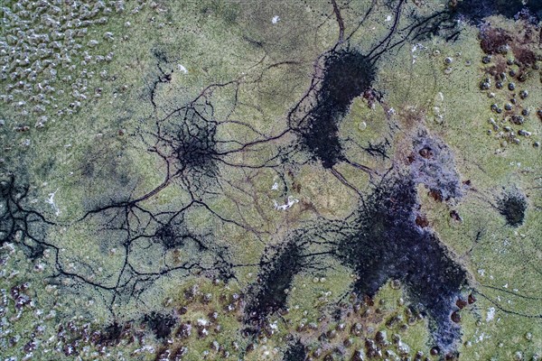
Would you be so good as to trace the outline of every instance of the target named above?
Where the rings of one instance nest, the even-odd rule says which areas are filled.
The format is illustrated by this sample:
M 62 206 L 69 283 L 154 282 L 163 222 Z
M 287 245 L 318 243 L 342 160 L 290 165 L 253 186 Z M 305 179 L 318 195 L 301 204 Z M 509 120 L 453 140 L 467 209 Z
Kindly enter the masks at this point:
M 316 105 L 308 116 L 307 125 L 300 130 L 304 146 L 324 168 L 341 161 L 339 123 L 352 100 L 369 88 L 374 77 L 372 62 L 358 51 L 332 51 L 325 59 Z

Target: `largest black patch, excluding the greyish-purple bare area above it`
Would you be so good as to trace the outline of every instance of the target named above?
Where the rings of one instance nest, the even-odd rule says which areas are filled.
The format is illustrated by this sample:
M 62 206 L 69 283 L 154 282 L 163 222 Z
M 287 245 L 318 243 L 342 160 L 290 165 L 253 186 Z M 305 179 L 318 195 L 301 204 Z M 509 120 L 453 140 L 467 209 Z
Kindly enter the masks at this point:
M 413 304 L 432 320 L 437 344 L 450 349 L 460 336 L 450 317 L 466 273 L 434 233 L 416 225 L 417 206 L 416 182 L 384 180 L 336 252 L 358 274 L 354 290 L 361 295 L 374 295 L 389 279 L 404 282 Z

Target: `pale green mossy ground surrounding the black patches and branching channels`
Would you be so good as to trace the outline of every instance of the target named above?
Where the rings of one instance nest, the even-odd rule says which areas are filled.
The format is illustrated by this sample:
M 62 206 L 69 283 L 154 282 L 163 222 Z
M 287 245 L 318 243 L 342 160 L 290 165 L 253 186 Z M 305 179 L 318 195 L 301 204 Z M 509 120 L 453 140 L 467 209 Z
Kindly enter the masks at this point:
M 369 4 L 350 2 L 342 6 L 347 33 L 354 30 Z M 15 2 L 3 6 L 14 8 Z M 113 8 L 114 4 L 108 6 Z M 430 1 L 406 6 L 418 14 L 432 14 L 445 9 L 446 4 Z M 13 318 L 17 313 L 13 300 L 2 305 L 5 309 L 0 339 L 2 356 L 21 359 L 30 352 L 23 349 L 24 345 L 36 338 L 42 341 L 32 351 L 34 359 L 73 359 L 56 346 L 61 340 L 59 325 L 71 319 L 79 327 L 88 323 L 90 329 L 104 329 L 114 320 L 133 321 L 134 329 L 138 329 L 142 317 L 152 310 L 173 314 L 183 306 L 188 311 L 179 316 L 182 322 L 197 323 L 198 319 L 208 319 L 210 311 L 217 310 L 220 316 L 215 326 L 220 324 L 221 328 L 206 338 L 197 337 L 196 328 L 195 336 L 188 340 L 172 337 L 173 348 L 188 347 L 186 359 L 202 359 L 205 351 L 209 351 L 210 359 L 224 356 L 223 350 L 212 351 L 215 338 L 232 359 L 234 356 L 248 360 L 279 359 L 294 338 L 301 339 L 311 352 L 315 351 L 324 343 L 318 340 L 320 334 L 336 329 L 341 323 L 332 319 L 333 308 L 341 302 L 347 304 L 344 312 L 352 307 L 352 271 L 331 257 L 318 259 L 321 271 L 304 271 L 294 276 L 288 290 L 289 311 L 270 316 L 269 324 L 276 324 L 276 329 L 271 329 L 272 335 L 253 340 L 243 336 L 246 325 L 242 302 L 235 304 L 234 310 L 225 311 L 235 303 L 234 293 L 242 294 L 249 284 L 256 282 L 258 263 L 267 245 L 283 242 L 292 230 L 310 226 L 314 219 L 341 220 L 358 207 L 355 191 L 294 148 L 292 144 L 297 139 L 293 134 L 261 143 L 250 152 L 224 157 L 222 161 L 229 164 L 252 166 L 282 152 L 269 168 L 235 167 L 220 162 L 220 185 L 210 182 L 215 184 L 212 190 L 216 191 L 201 196 L 209 208 L 191 208 L 186 215 L 188 227 L 210 230 L 213 239 L 227 247 L 231 262 L 236 264 L 236 279 L 213 284 L 207 278 L 212 276 L 205 272 L 168 273 L 147 284 L 139 299 L 118 299 L 117 304 L 110 305 L 111 294 L 107 291 L 89 284 L 81 286 L 69 277 L 50 278 L 58 273 L 58 261 L 65 271 L 82 274 L 100 284 L 110 286 L 117 282 L 116 274 L 125 264 L 126 233 L 103 227 L 114 223 L 110 222 L 111 215 L 99 213 L 84 222 L 78 219 L 90 209 L 111 201 L 143 196 L 164 181 L 164 160 L 147 152 L 154 139 L 156 120 L 191 102 L 210 84 L 235 81 L 229 86 L 213 88 L 212 94 L 208 94 L 215 119 L 245 124 L 220 125 L 218 138 L 248 143 L 260 138 L 258 132 L 268 136 L 280 134 L 287 126 L 288 111 L 310 85 L 314 61 L 337 41 L 338 25 L 332 6 L 319 1 L 261 5 L 235 1 L 155 1 L 128 2 L 125 7 L 122 13 L 107 15 L 107 23 L 88 26 L 89 32 L 78 40 L 81 44 L 78 55 L 73 57 L 77 71 L 59 69 L 59 79 L 76 74 L 73 81 L 60 80 L 55 85 L 57 91 L 63 90 L 63 94 L 55 96 L 60 107 L 74 101 L 70 94 L 75 78 L 83 78 L 79 72 L 83 69 L 95 72 L 93 77 L 85 79 L 89 97 L 80 100 L 79 110 L 58 116 L 57 109 L 51 106 L 42 114 L 32 111 L 27 114 L 14 106 L 16 101 L 0 108 L 0 118 L 5 121 L 0 125 L 2 176 L 14 173 L 16 180 L 31 186 L 27 205 L 55 223 L 42 236 L 59 248 L 58 260 L 54 252 L 48 252 L 34 261 L 27 259 L 16 242 L 12 241 L 13 253 L 10 246 L 3 248 L 5 262 L 1 266 L 0 288 L 8 294 L 12 287 L 30 282 L 29 294 L 34 303 L 23 307 L 20 319 Z M 3 12 L 7 16 L 5 9 Z M 369 51 L 388 32 L 387 19 L 392 14 L 393 8 L 378 5 L 352 36 L 350 46 L 362 53 Z M 276 23 L 272 23 L 274 16 L 280 18 Z M 534 26 L 500 16 L 492 16 L 488 21 L 491 26 L 509 32 Z M 408 23 L 408 18 L 401 22 L 405 23 L 400 25 Z M 509 101 L 509 92 L 481 90 L 488 65 L 481 61 L 485 54 L 478 39 L 479 29 L 468 23 L 460 23 L 459 28 L 461 32 L 455 42 L 435 36 L 408 41 L 384 53 L 376 63 L 376 79 L 371 85 L 382 95 L 382 101 L 374 102 L 371 107 L 367 98 L 354 99 L 349 114 L 341 121 L 338 135 L 344 142 L 347 158 L 368 166 L 377 178 L 390 166 L 406 162 L 412 137 L 420 129 L 439 137 L 453 150 L 461 180 L 469 181 L 463 198 L 437 202 L 423 187 L 418 187 L 418 198 L 429 227 L 468 270 L 472 294 L 477 299 L 460 312 L 463 332 L 458 346 L 460 359 L 512 359 L 518 352 L 523 359 L 530 359 L 542 352 L 539 306 L 542 304 L 539 266 L 542 162 L 540 147 L 533 146 L 540 142 L 542 134 L 542 122 L 537 117 L 542 104 L 540 72 L 533 69 L 518 89 L 528 89 L 529 96 L 521 102 L 530 109 L 530 116 L 515 131 L 521 128 L 531 135 L 518 137 L 519 144 L 503 143 L 504 138 L 497 138 L 498 132 L 492 131 L 489 119 L 496 117 L 491 105 L 503 106 Z M 6 28 L 0 37 L 6 39 L 13 29 Z M 104 40 L 105 32 L 112 32 L 115 40 Z M 89 47 L 92 39 L 98 39 L 98 46 Z M 83 51 L 93 56 L 114 51 L 115 55 L 107 63 L 81 65 Z M 518 66 L 512 65 L 510 69 L 518 70 Z M 104 70 L 104 75 L 100 75 Z M 164 73 L 171 74 L 171 79 L 164 80 Z M 20 97 L 36 95 L 37 82 L 28 94 L 21 93 Z M 3 88 L 11 83 L 10 79 L 0 81 Z M 77 87 L 80 90 L 80 85 Z M 491 92 L 495 97 L 488 97 Z M 95 97 L 98 93 L 99 97 Z M 237 103 L 233 106 L 235 99 Z M 36 127 L 41 116 L 48 116 L 49 120 L 43 127 Z M 15 129 L 23 125 L 30 129 L 23 132 Z M 364 150 L 386 141 L 388 158 Z M 235 149 L 235 143 L 225 147 Z M 336 170 L 356 189 L 371 190 L 368 172 L 345 163 L 337 164 Z M 276 190 L 272 189 L 275 183 Z M 499 210 L 503 192 L 513 189 L 521 190 L 528 203 L 519 227 L 509 227 Z M 47 203 L 51 193 L 54 205 Z M 274 200 L 282 205 L 288 202 L 288 196 L 299 199 L 299 203 L 284 211 L 274 208 Z M 140 205 L 155 212 L 168 212 L 190 201 L 182 181 L 173 180 Z M 450 216 L 453 210 L 461 220 Z M 181 250 L 175 256 L 185 260 L 201 257 L 202 264 L 213 262 L 212 254 L 200 255 L 194 249 Z M 161 272 L 165 263 L 173 262 L 173 254 L 164 256 L 162 247 L 145 242 L 135 242 L 129 258 L 140 272 L 148 273 Z M 193 284 L 199 285 L 197 296 L 186 300 L 184 291 Z M 212 294 L 211 301 L 202 302 L 201 297 L 207 293 Z M 363 337 L 375 338 L 378 330 L 388 329 L 388 319 L 406 312 L 409 300 L 403 303 L 402 297 L 402 289 L 394 289 L 388 282 L 375 296 L 375 306 L 368 306 L 369 316 L 361 318 L 353 312 L 344 317 L 347 330 L 355 322 L 363 324 L 362 337 L 351 337 L 345 332 L 328 343 L 332 345 L 329 349 L 323 347 L 322 357 L 332 352 L 335 344 L 342 345 L 342 338 L 353 338 L 350 350 L 365 347 Z M 322 315 L 326 319 L 318 321 Z M 300 324 L 311 322 L 317 322 L 318 326 L 299 329 Z M 35 336 L 38 325 L 45 330 Z M 433 341 L 426 319 L 413 322 L 406 330 L 398 328 L 388 329 L 390 340 L 391 334 L 397 332 L 410 350 L 429 355 Z M 144 333 L 144 341 L 127 343 L 123 339 L 107 347 L 106 352 L 101 352 L 97 344 L 81 342 L 79 356 L 157 359 L 156 355 L 166 346 L 148 329 Z M 20 340 L 13 342 L 17 335 Z M 74 334 L 73 338 L 77 337 Z M 233 342 L 238 343 L 238 349 Z M 251 343 L 255 345 L 254 351 L 242 351 Z M 388 348 L 397 354 L 397 347 L 392 343 Z M 335 357 L 346 358 L 344 355 Z

